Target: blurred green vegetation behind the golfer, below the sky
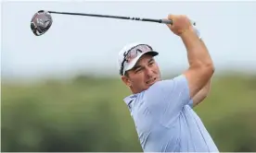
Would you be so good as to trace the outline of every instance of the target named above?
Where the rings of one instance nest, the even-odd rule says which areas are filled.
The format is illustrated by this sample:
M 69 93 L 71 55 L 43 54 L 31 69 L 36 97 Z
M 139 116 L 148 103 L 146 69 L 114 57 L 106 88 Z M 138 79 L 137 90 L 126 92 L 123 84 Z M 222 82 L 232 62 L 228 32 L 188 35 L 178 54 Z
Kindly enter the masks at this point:
M 2 81 L 1 92 L 2 151 L 142 151 L 119 78 Z M 256 76 L 213 76 L 195 111 L 220 151 L 256 151 L 255 99 Z

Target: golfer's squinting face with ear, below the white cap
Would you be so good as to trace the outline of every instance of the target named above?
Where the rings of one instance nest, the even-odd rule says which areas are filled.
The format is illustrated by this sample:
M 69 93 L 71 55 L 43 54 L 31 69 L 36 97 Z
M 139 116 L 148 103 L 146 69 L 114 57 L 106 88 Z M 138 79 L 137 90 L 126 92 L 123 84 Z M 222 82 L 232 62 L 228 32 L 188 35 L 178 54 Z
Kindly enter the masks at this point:
M 131 88 L 133 93 L 146 90 L 160 80 L 160 68 L 152 55 L 144 54 L 140 57 L 134 68 L 122 76 L 122 81 Z

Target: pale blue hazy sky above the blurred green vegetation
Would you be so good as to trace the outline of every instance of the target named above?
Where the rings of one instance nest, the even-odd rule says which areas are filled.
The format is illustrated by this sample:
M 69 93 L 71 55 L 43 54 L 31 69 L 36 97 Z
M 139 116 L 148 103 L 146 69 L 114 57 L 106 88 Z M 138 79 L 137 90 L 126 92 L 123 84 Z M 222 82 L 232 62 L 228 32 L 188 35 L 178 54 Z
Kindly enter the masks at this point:
M 30 21 L 41 9 L 166 18 L 184 14 L 198 23 L 216 72 L 256 72 L 256 2 L 5 2 L 2 3 L 2 76 L 72 76 L 79 73 L 118 76 L 117 54 L 127 43 L 153 46 L 163 73 L 180 73 L 187 67 L 182 41 L 164 24 L 52 15 L 51 29 L 36 37 Z

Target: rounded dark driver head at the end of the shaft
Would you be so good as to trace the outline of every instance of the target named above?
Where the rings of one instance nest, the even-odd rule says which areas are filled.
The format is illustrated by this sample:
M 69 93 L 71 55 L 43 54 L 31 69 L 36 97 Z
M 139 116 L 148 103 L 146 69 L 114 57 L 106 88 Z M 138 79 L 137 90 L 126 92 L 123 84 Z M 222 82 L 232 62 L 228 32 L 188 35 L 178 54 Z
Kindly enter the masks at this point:
M 50 29 L 53 23 L 53 19 L 49 12 L 40 10 L 35 13 L 31 20 L 32 33 L 35 36 L 43 35 L 48 29 Z

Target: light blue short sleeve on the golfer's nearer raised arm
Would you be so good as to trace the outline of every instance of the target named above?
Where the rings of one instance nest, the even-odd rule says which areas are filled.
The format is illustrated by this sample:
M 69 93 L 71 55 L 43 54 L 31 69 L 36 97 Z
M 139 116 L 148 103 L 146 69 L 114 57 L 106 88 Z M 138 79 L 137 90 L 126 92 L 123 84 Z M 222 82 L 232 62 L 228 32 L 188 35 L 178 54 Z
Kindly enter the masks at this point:
M 145 92 L 150 112 L 162 124 L 171 124 L 178 117 L 184 106 L 191 107 L 190 94 L 186 76 L 155 83 Z

